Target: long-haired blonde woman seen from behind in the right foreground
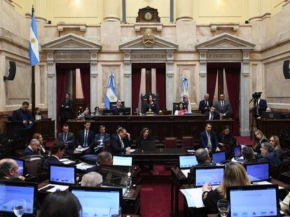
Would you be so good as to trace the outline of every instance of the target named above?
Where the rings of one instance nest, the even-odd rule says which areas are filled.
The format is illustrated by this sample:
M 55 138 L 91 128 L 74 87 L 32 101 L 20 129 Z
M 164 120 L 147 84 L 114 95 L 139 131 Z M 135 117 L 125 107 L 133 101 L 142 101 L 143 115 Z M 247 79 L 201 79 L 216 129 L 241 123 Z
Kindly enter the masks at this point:
M 202 186 L 202 202 L 209 210 L 209 214 L 217 214 L 217 202 L 226 200 L 226 188 L 231 186 L 249 186 L 251 182 L 246 170 L 239 163 L 230 162 L 226 165 L 221 184 L 212 190 L 212 186 L 205 183 Z

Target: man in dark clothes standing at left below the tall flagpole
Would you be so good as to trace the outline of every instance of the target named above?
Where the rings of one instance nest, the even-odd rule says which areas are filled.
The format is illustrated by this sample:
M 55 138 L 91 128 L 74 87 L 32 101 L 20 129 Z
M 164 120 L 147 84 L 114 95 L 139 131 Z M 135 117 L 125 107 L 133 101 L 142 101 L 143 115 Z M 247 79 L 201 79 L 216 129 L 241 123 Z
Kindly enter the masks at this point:
M 28 110 L 29 103 L 23 102 L 20 109 L 13 111 L 11 117 L 11 137 L 18 139 L 25 137 L 25 142 L 29 142 L 29 137 L 26 128 L 32 124 L 32 114 Z

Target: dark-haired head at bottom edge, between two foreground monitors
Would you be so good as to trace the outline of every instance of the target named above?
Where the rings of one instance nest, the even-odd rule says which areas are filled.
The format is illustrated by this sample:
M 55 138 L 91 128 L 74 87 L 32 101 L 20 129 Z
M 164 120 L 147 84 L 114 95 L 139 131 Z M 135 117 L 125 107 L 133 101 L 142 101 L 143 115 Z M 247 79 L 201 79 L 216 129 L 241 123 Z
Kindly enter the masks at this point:
M 41 217 L 81 217 L 81 204 L 69 190 L 49 193 L 43 200 L 37 216 Z

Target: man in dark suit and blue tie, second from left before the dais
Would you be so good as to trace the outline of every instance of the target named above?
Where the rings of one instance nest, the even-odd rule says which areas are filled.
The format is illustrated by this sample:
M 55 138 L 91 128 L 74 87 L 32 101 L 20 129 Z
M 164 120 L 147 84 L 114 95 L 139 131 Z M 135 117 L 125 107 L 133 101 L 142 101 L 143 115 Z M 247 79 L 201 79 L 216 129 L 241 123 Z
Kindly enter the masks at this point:
M 83 153 L 90 154 L 91 149 L 94 147 L 95 132 L 90 130 L 90 121 L 85 121 L 85 128 L 78 131 L 76 137 L 76 145 L 78 149 L 83 148 Z

